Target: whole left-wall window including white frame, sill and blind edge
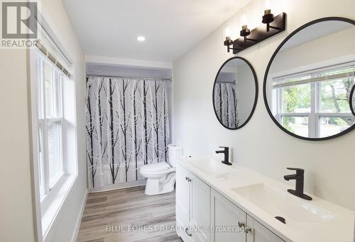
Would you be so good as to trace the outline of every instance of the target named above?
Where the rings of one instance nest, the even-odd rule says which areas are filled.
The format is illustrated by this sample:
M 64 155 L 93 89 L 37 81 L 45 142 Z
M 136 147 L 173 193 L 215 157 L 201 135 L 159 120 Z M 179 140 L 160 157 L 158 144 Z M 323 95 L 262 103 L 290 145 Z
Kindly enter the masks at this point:
M 33 182 L 38 235 L 45 241 L 77 178 L 75 80 L 59 52 L 37 47 L 30 50 Z

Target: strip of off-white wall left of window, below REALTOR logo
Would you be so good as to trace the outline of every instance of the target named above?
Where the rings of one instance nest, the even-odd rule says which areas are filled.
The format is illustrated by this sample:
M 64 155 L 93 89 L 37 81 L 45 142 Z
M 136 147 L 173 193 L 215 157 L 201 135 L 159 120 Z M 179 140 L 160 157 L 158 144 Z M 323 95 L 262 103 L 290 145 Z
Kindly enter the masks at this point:
M 26 50 L 0 50 L 0 241 L 34 241 Z

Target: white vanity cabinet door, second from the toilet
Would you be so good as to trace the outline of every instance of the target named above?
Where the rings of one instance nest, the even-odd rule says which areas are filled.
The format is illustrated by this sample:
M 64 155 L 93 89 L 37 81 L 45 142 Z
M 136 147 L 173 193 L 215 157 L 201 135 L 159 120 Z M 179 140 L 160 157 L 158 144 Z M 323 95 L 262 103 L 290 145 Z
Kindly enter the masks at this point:
M 211 188 L 195 175 L 190 174 L 191 205 L 190 222 L 191 238 L 195 242 L 207 242 L 210 237 L 210 193 Z

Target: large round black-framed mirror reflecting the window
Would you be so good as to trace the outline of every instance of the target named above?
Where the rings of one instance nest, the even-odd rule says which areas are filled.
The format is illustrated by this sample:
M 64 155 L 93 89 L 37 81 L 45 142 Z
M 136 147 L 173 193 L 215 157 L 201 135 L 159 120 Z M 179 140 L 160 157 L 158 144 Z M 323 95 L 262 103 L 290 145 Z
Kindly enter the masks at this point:
M 263 82 L 266 109 L 280 129 L 312 141 L 354 129 L 354 42 L 355 21 L 340 17 L 302 25 L 283 40 Z

